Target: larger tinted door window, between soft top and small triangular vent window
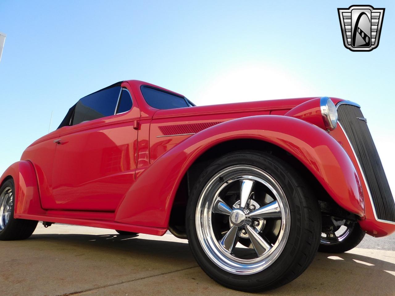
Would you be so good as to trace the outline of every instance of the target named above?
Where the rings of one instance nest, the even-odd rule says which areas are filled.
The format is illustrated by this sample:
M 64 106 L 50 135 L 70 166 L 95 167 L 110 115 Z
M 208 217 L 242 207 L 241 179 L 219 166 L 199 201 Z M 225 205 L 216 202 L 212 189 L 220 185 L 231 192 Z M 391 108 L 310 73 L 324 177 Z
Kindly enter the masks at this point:
M 81 98 L 75 105 L 73 124 L 115 114 L 121 87 L 103 89 Z

